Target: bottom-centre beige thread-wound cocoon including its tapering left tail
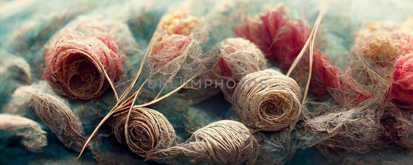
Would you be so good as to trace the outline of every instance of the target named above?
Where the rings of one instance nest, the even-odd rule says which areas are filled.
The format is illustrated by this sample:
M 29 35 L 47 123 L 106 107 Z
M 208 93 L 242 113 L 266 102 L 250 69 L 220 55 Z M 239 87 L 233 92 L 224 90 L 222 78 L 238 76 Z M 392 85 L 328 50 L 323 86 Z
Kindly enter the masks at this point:
M 183 154 L 195 160 L 212 159 L 217 164 L 237 165 L 245 160 L 253 164 L 258 147 L 244 124 L 220 120 L 195 131 L 188 142 L 165 149 L 159 157 L 169 160 Z

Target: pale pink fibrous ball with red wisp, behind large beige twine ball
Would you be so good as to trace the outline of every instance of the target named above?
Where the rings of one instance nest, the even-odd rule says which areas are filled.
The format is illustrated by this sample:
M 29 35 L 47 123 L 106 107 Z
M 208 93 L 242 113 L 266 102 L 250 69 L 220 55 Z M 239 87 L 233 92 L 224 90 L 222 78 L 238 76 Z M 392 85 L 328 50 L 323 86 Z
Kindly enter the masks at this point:
M 254 43 L 242 38 L 228 38 L 216 45 L 209 58 L 218 59 L 206 77 L 221 83 L 225 99 L 232 101 L 235 86 L 249 73 L 266 69 L 266 60 Z

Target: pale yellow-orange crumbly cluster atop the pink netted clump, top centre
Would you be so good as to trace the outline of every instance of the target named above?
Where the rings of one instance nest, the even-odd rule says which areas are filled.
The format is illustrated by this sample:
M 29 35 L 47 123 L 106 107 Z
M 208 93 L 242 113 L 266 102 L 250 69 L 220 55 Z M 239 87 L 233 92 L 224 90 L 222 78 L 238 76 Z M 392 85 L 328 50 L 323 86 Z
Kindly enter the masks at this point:
M 191 16 L 186 12 L 177 12 L 166 14 L 159 24 L 169 35 L 189 35 L 199 24 L 202 24 L 202 19 Z M 176 31 L 176 29 L 178 29 L 178 31 Z

